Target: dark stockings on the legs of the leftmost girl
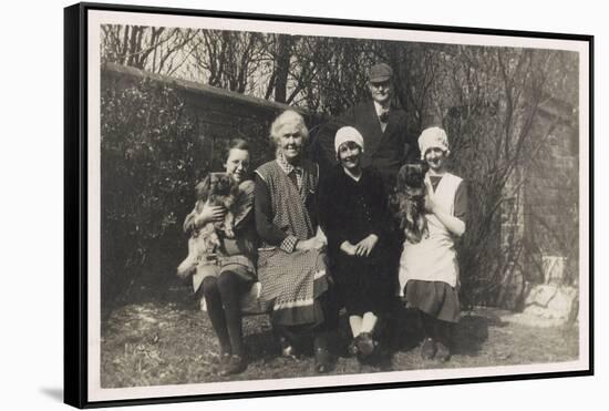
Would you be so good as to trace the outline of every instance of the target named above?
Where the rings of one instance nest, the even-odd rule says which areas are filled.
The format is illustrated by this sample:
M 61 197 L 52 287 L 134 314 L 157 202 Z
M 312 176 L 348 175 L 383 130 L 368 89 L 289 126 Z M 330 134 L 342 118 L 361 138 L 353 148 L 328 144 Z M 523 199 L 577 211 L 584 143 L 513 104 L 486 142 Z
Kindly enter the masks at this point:
M 203 280 L 207 315 L 223 352 L 244 355 L 239 300 L 249 286 L 250 281 L 233 271 L 223 271 L 218 277 L 207 277 Z

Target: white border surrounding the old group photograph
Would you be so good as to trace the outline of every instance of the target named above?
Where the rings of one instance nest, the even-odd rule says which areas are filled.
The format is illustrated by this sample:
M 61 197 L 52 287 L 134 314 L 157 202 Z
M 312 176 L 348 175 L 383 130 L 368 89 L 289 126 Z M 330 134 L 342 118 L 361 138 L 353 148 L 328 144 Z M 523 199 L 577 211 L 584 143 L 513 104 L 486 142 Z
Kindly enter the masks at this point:
M 499 380 L 509 379 L 515 376 L 533 376 L 567 372 L 586 372 L 591 370 L 592 352 L 591 347 L 591 266 L 590 266 L 590 88 L 591 74 L 590 68 L 590 43 L 586 40 L 567 40 L 545 37 L 523 37 L 522 33 L 514 35 L 500 34 L 481 34 L 468 32 L 469 29 L 462 32 L 434 30 L 431 28 L 421 30 L 410 28 L 405 24 L 396 24 L 403 28 L 383 28 L 378 27 L 381 23 L 370 22 L 368 27 L 350 25 L 349 21 L 322 20 L 320 22 L 293 22 L 293 21 L 269 21 L 269 17 L 251 16 L 245 19 L 230 17 L 199 17 L 199 16 L 179 16 L 175 10 L 172 14 L 164 13 L 164 9 L 146 9 L 146 12 L 121 11 L 122 7 L 90 7 L 86 9 L 86 116 L 87 116 L 87 153 L 86 153 L 86 186 L 87 186 L 87 370 L 86 391 L 87 401 L 105 402 L 121 400 L 149 400 L 163 398 L 179 398 L 185 395 L 216 395 L 216 394 L 245 394 L 260 392 L 264 394 L 270 390 L 303 390 L 317 389 L 323 391 L 331 388 L 354 389 L 354 387 L 391 383 L 405 384 L 434 384 L 438 381 L 460 382 L 461 380 L 498 378 Z M 154 12 L 152 11 L 154 10 Z M 190 11 L 195 13 L 195 11 Z M 209 14 L 202 11 L 202 16 Z M 279 19 L 278 17 L 276 17 Z M 292 18 L 298 19 L 298 18 Z M 303 21 L 311 19 L 303 19 Z M 323 37 L 348 37 L 362 39 L 385 39 L 409 42 L 433 42 L 433 43 L 456 43 L 456 44 L 476 44 L 489 47 L 518 47 L 536 49 L 568 50 L 579 53 L 579 359 L 577 361 L 544 363 L 533 366 L 505 366 L 472 369 L 437 369 L 437 370 L 410 370 L 376 372 L 371 374 L 343 374 L 338 377 L 306 377 L 275 380 L 255 380 L 255 381 L 234 381 L 234 382 L 213 382 L 213 383 L 192 383 L 179 386 L 155 386 L 136 388 L 116 388 L 104 389 L 101 387 L 101 300 L 100 300 L 100 223 L 101 223 L 101 194 L 100 194 L 100 38 L 102 24 L 138 24 L 152 27 L 178 27 L 178 28 L 206 28 L 218 30 L 239 30 L 239 31 L 262 31 L 302 35 L 323 35 Z M 541 34 L 541 33 L 537 33 Z M 556 35 L 559 37 L 559 35 Z M 200 397 L 199 399 L 204 399 Z M 147 401 L 151 402 L 151 401 Z

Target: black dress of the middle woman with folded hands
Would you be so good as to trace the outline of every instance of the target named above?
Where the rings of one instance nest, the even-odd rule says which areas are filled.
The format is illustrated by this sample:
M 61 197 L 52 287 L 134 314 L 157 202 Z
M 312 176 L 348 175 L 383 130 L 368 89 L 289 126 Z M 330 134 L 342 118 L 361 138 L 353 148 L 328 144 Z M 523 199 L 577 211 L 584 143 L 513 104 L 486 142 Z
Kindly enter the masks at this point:
M 358 182 L 337 166 L 321 184 L 321 209 L 337 294 L 348 314 L 385 310 L 394 281 L 388 269 L 390 220 L 382 177 L 367 167 Z M 340 249 L 343 242 L 355 245 L 370 234 L 379 237 L 370 256 Z

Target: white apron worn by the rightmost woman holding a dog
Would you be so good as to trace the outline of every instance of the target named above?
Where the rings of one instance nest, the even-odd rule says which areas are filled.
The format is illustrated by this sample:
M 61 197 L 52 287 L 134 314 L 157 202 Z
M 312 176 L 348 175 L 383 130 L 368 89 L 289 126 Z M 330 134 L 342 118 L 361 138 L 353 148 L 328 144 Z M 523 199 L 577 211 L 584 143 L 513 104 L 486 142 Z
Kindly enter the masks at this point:
M 430 178 L 429 174 L 425 176 Z M 446 214 L 454 216 L 455 194 L 462 178 L 446 173 L 435 189 L 436 205 Z M 400 257 L 400 291 L 404 296 L 406 282 L 411 279 L 423 281 L 443 281 L 456 287 L 458 284 L 458 264 L 453 235 L 434 214 L 425 214 L 429 237 L 419 244 L 404 242 Z

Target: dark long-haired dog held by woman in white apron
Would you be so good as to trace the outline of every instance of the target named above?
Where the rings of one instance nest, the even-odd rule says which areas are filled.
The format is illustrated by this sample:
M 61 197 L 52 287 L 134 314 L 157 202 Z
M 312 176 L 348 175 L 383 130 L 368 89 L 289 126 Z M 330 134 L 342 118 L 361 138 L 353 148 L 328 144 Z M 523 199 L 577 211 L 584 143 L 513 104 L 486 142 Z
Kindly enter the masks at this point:
M 425 218 L 425 173 L 424 163 L 404 164 L 398 173 L 395 194 L 392 205 L 396 208 L 400 228 L 404 230 L 406 240 L 417 244 L 429 234 Z

